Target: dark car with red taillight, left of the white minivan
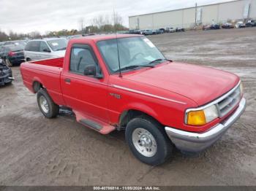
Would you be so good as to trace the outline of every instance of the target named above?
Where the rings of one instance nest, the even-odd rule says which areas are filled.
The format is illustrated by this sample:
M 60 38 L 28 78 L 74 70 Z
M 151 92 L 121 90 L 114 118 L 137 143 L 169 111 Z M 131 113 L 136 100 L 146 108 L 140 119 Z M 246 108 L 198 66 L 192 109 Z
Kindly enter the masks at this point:
M 23 49 L 24 47 L 22 45 L 4 45 L 0 50 L 0 58 L 9 67 L 18 65 L 25 61 Z

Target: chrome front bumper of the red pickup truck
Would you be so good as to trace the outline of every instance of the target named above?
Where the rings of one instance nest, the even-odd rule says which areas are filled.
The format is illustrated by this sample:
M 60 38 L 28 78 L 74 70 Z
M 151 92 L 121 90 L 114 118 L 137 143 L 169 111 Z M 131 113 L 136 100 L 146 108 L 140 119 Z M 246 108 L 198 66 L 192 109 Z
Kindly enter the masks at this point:
M 225 131 L 233 125 L 236 120 L 241 116 L 246 107 L 246 99 L 242 98 L 238 109 L 227 118 L 227 120 L 215 125 L 210 130 L 204 133 L 191 133 L 184 130 L 165 127 L 167 136 L 176 147 L 186 152 L 201 152 L 207 147 L 210 147 L 217 141 Z

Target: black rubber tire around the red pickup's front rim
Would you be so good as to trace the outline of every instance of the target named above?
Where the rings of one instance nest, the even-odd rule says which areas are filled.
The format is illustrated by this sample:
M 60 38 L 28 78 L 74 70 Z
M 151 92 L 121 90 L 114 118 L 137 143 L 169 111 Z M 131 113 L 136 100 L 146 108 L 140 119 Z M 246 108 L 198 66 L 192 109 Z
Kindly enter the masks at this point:
M 132 141 L 132 134 L 136 129 L 138 130 L 141 128 L 151 133 L 157 143 L 157 151 L 153 156 L 148 157 L 142 155 L 138 149 L 136 149 L 135 144 Z M 162 163 L 165 163 L 173 152 L 173 144 L 171 143 L 170 139 L 168 139 L 164 128 L 159 124 L 159 122 L 152 120 L 150 117 L 141 116 L 128 122 L 125 131 L 125 139 L 133 155 L 135 155 L 138 160 L 148 165 L 161 165 Z

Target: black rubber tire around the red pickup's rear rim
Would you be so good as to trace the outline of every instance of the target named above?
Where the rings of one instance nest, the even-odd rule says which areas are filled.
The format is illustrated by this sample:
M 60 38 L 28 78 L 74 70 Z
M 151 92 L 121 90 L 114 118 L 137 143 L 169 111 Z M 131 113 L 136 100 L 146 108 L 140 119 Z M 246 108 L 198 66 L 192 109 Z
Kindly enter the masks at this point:
M 42 104 L 40 104 L 41 97 L 42 99 L 45 98 L 45 101 L 47 101 L 48 112 L 44 111 Z M 50 95 L 47 93 L 47 90 L 45 89 L 41 89 L 37 92 L 37 104 L 42 114 L 49 119 L 56 117 L 59 114 L 59 106 L 53 102 L 52 98 L 50 98 Z

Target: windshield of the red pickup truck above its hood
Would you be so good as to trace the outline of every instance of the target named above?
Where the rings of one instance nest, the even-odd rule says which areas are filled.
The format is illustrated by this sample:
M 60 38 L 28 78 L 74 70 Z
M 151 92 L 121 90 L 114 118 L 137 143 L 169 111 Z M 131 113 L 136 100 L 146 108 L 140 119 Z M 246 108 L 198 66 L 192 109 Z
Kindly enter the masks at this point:
M 165 60 L 164 55 L 146 37 L 104 40 L 98 42 L 97 46 L 111 74 L 119 71 L 118 52 L 121 69 L 129 69 L 129 66 L 146 66 L 157 59 Z

